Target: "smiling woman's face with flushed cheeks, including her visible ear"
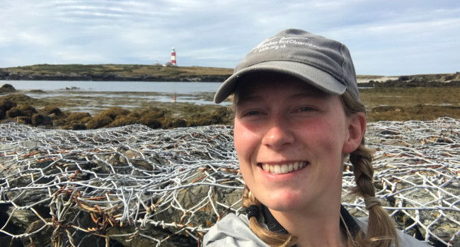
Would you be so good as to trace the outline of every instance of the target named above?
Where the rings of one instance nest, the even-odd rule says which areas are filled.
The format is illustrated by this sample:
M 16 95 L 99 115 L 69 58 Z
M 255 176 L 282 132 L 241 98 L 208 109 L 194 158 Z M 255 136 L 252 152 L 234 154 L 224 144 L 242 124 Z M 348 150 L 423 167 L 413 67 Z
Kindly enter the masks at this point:
M 346 116 L 339 96 L 295 78 L 239 84 L 235 147 L 255 198 L 277 211 L 340 203 L 343 156 L 360 144 L 364 131 L 355 128 L 365 120 Z

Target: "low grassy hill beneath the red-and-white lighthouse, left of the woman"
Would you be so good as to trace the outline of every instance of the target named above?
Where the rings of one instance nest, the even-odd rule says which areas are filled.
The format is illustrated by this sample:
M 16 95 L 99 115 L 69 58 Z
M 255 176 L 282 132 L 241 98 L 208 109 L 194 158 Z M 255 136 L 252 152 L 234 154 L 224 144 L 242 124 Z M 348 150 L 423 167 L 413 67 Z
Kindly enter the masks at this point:
M 0 80 L 224 81 L 231 68 L 139 64 L 37 64 L 0 68 Z

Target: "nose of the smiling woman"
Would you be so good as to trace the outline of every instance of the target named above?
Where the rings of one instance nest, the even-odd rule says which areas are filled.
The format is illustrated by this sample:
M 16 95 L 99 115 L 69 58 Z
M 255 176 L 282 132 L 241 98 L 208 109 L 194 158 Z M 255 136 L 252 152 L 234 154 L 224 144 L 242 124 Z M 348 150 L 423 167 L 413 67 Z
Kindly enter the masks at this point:
M 262 144 L 273 150 L 280 150 L 292 143 L 294 133 L 289 123 L 280 116 L 272 117 L 265 128 Z

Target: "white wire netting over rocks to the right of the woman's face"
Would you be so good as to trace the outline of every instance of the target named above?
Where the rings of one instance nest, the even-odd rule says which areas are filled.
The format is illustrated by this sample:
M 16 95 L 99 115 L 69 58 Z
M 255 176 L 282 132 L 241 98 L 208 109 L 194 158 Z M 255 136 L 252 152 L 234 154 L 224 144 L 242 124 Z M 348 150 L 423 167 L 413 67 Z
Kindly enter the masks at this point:
M 367 143 L 377 151 L 373 162 L 376 196 L 386 202 L 384 207 L 399 229 L 436 246 L 451 246 L 460 233 L 459 123 L 441 118 L 368 125 Z M 355 183 L 343 181 L 346 194 Z M 362 199 L 343 205 L 356 215 L 367 215 Z

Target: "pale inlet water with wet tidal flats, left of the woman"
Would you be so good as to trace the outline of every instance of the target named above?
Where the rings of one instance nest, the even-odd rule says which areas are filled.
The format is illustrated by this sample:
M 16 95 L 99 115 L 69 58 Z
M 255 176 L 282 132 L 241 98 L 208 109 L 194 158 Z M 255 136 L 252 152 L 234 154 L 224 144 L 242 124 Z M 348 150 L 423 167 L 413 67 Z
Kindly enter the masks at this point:
M 155 102 L 214 105 L 214 92 L 222 83 L 0 80 L 0 86 L 4 84 L 13 85 L 18 93 L 34 99 L 66 100 L 67 106 L 59 107 L 62 110 L 95 114 L 108 107 L 142 108 Z

